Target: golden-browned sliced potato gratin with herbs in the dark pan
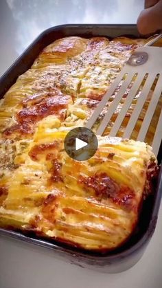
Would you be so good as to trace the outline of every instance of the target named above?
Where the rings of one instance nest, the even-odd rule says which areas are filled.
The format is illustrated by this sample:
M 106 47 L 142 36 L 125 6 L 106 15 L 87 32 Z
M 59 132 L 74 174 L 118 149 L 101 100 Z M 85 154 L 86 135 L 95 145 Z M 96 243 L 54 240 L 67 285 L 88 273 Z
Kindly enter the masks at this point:
M 63 143 L 70 129 L 84 126 L 132 50 L 145 42 L 62 38 L 45 47 L 5 93 L 0 107 L 1 227 L 98 251 L 119 247 L 132 234 L 157 169 L 148 144 L 159 106 L 146 136 L 148 144 L 135 142 L 151 92 L 132 140 L 119 137 L 135 103 L 119 137 L 108 137 L 120 103 L 91 159 L 71 159 Z

